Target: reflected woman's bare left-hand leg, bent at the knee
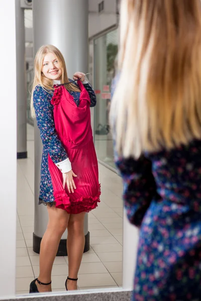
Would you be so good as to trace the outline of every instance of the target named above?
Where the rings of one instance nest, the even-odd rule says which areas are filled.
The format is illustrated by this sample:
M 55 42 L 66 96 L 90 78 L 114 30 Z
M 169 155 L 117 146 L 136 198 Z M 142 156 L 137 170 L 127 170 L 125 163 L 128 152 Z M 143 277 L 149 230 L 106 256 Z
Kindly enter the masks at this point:
M 38 279 L 43 283 L 51 281 L 52 265 L 58 250 L 61 236 L 68 225 L 69 214 L 55 206 L 47 207 L 49 221 L 47 230 L 43 235 L 40 247 L 40 273 Z M 51 291 L 50 285 L 40 285 L 36 281 L 38 291 Z

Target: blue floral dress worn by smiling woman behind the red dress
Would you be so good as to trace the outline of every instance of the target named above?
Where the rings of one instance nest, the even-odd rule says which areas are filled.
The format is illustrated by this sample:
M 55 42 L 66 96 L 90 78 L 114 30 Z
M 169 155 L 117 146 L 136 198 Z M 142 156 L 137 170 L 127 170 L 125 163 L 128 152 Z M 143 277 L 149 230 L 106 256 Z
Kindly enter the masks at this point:
M 96 96 L 90 84 L 84 84 L 90 97 L 90 107 L 96 105 Z M 77 106 L 79 106 L 80 92 L 69 91 L 73 96 Z M 53 116 L 53 105 L 51 104 L 53 93 L 46 92 L 41 86 L 37 86 L 33 94 L 34 109 L 36 112 L 36 121 L 40 129 L 40 135 L 43 142 L 43 154 L 41 161 L 41 181 L 39 204 L 52 206 L 54 202 L 52 180 L 48 168 L 48 154 L 56 164 L 68 158 L 66 151 L 59 140 Z

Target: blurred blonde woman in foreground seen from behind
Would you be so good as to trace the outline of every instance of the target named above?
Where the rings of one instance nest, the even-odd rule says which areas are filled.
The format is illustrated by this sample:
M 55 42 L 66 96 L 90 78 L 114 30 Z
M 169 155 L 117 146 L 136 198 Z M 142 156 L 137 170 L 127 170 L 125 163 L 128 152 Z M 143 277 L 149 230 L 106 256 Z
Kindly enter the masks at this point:
M 111 120 L 130 222 L 133 300 L 201 297 L 201 2 L 123 0 Z M 135 238 L 133 238 L 135 239 Z

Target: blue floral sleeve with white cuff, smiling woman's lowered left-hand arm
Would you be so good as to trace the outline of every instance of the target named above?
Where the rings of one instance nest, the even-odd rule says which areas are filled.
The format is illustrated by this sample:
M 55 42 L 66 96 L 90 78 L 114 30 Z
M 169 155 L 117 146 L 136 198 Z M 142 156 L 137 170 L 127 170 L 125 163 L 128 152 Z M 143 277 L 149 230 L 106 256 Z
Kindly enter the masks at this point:
M 55 130 L 52 94 L 37 86 L 33 94 L 36 122 L 40 129 L 43 146 L 48 149 L 52 161 L 56 164 L 68 158 L 65 148 Z

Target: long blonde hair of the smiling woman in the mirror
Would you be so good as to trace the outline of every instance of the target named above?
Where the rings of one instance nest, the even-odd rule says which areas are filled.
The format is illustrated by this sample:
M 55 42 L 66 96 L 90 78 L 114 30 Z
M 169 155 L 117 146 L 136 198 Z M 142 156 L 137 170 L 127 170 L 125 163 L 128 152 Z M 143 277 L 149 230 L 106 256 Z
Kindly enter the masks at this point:
M 61 83 L 69 82 L 68 76 L 67 76 L 67 71 L 66 71 L 65 60 L 64 60 L 62 53 L 58 50 L 58 48 L 56 48 L 53 45 L 42 46 L 38 50 L 35 60 L 34 60 L 35 74 L 34 74 L 32 96 L 31 96 L 31 115 L 32 115 L 32 117 L 35 117 L 35 111 L 34 111 L 34 106 L 33 106 L 33 93 L 34 93 L 35 87 L 37 85 L 41 85 L 46 91 L 53 90 L 53 80 L 45 77 L 42 72 L 43 60 L 44 60 L 45 55 L 48 53 L 55 54 L 58 62 L 60 63 L 60 66 L 62 69 L 62 75 L 61 75 L 61 79 L 60 79 Z M 80 91 L 79 88 L 76 87 L 74 84 L 68 84 L 68 85 L 65 85 L 65 87 L 69 91 Z

